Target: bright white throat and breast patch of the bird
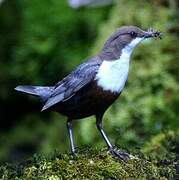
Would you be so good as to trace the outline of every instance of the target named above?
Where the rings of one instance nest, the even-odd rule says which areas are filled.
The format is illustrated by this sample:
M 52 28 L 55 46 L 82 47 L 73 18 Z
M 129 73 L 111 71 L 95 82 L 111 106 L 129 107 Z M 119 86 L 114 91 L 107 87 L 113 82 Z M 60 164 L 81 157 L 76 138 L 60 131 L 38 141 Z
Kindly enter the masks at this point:
M 103 61 L 95 77 L 98 86 L 102 87 L 103 90 L 115 93 L 120 93 L 123 90 L 128 77 L 130 56 L 133 49 L 143 39 L 144 38 L 136 38 L 132 40 L 131 43 L 122 50 L 118 60 Z

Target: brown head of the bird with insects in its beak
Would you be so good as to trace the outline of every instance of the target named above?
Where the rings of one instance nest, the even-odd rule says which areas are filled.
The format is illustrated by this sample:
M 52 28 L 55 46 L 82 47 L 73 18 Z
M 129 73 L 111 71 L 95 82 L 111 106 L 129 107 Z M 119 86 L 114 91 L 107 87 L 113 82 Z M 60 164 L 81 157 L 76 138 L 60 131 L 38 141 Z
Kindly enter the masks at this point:
M 149 29 L 144 31 L 136 26 L 122 26 L 110 38 L 106 41 L 103 52 L 113 53 L 115 56 L 121 54 L 121 51 L 125 48 L 129 54 L 133 49 L 143 40 L 162 37 L 162 33 Z

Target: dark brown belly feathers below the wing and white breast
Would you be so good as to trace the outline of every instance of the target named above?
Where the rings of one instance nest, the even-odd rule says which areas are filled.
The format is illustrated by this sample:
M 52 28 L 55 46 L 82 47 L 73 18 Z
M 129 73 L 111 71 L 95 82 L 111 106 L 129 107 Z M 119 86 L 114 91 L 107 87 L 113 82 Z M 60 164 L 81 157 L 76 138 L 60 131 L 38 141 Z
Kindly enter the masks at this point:
M 118 96 L 119 94 L 104 91 L 96 81 L 92 81 L 70 99 L 60 102 L 50 109 L 71 119 L 80 119 L 105 112 Z

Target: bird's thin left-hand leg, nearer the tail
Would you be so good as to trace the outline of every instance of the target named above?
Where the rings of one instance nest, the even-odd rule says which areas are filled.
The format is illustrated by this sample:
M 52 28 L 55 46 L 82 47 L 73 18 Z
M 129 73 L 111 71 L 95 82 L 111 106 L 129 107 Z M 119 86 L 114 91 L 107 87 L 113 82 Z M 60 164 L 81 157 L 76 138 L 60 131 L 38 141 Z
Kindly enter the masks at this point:
M 72 152 L 73 155 L 75 155 L 76 154 L 76 148 L 75 148 L 75 143 L 74 143 L 72 122 L 71 122 L 70 119 L 67 120 L 67 129 L 68 129 L 68 135 L 69 135 L 69 138 L 70 138 L 71 152 Z

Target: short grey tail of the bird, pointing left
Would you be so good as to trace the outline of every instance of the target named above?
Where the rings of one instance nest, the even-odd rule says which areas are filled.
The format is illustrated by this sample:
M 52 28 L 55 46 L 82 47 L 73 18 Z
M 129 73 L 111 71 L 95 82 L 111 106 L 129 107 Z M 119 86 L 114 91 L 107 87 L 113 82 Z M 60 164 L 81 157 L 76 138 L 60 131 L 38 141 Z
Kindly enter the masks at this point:
M 46 101 L 53 92 L 54 87 L 48 86 L 17 86 L 16 91 L 32 94 L 40 97 L 43 101 Z

